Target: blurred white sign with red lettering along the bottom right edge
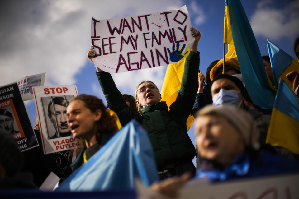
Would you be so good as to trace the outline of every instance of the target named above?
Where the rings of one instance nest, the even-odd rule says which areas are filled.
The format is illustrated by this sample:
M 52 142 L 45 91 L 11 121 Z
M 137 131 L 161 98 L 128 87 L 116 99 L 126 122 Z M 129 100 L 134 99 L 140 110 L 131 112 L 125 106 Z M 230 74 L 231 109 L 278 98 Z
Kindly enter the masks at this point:
M 197 184 L 198 181 L 198 184 Z M 149 187 L 136 181 L 138 198 L 161 197 Z M 189 185 L 188 185 L 189 184 Z M 197 186 L 196 186 L 197 184 Z M 288 174 L 264 178 L 250 178 L 202 185 L 202 179 L 187 183 L 179 191 L 178 198 L 201 199 L 297 199 L 299 198 L 299 174 Z

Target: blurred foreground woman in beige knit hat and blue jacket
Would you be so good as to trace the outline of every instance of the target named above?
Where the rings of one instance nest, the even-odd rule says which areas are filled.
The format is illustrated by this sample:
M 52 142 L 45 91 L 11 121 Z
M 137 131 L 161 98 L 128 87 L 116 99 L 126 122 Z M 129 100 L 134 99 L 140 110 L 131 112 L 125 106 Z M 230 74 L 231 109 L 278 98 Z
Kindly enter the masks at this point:
M 259 149 L 254 119 L 235 106 L 206 106 L 195 114 L 194 133 L 201 164 L 196 177 L 211 181 L 298 172 L 299 165 Z M 188 174 L 152 185 L 155 191 L 175 197 Z

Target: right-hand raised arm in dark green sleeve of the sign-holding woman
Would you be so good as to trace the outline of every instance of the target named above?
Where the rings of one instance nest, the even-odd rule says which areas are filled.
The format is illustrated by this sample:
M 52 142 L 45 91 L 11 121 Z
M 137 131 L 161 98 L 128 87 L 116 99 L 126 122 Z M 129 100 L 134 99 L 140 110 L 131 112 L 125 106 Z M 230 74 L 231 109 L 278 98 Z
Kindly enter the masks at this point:
M 191 34 L 195 37 L 195 41 L 192 45 L 191 52 L 185 61 L 178 97 L 176 101 L 170 105 L 170 110 L 175 111 L 178 114 L 182 123 L 186 123 L 186 120 L 192 111 L 198 90 L 199 52 L 197 52 L 197 45 L 201 34 L 194 28 L 191 28 Z

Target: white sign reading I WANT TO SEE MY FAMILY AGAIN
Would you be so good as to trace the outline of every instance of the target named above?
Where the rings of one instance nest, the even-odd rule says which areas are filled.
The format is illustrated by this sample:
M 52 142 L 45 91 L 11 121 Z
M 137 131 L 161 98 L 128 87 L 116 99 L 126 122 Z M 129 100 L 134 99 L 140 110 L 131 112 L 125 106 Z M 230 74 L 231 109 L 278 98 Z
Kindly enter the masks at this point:
M 179 62 L 194 37 L 187 7 L 147 15 L 91 21 L 93 62 L 106 72 L 125 72 Z

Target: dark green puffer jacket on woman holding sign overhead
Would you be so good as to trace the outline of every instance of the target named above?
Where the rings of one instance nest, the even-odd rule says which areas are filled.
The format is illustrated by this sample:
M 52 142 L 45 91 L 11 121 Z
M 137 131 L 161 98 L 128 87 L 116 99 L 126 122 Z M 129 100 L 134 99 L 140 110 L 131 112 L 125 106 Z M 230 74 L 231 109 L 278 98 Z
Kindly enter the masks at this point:
M 166 102 L 142 109 L 142 116 L 133 112 L 116 88 L 110 73 L 97 72 L 109 108 L 116 112 L 121 125 L 132 119 L 139 121 L 147 130 L 154 149 L 159 171 L 171 169 L 176 164 L 192 162 L 195 148 L 187 134 L 186 121 L 192 110 L 198 90 L 199 53 L 190 52 L 186 58 L 181 88 L 175 102 Z

